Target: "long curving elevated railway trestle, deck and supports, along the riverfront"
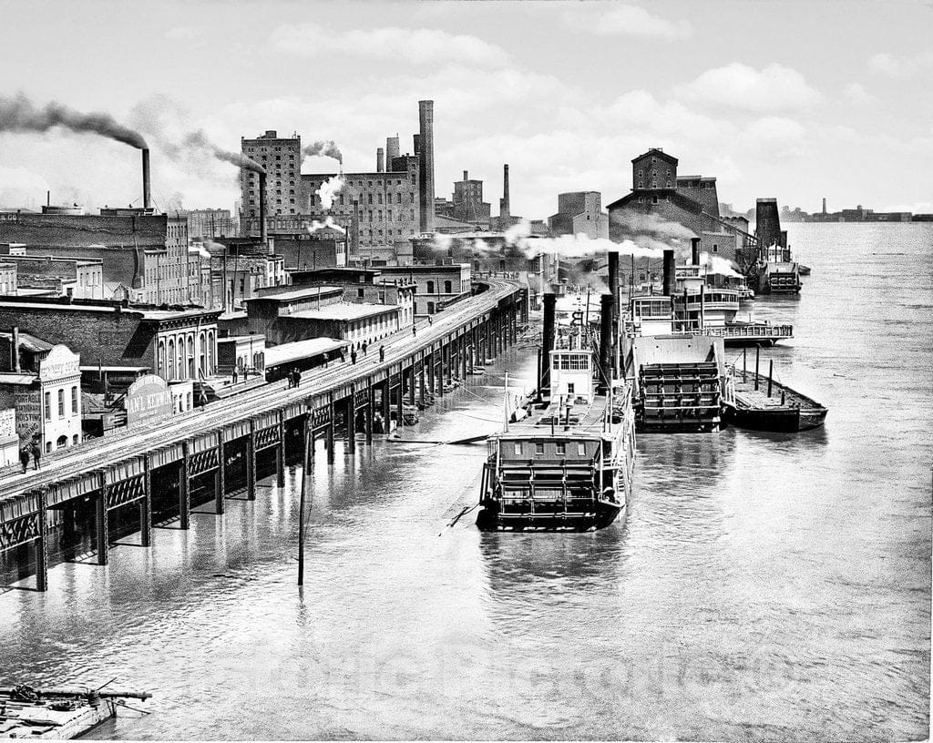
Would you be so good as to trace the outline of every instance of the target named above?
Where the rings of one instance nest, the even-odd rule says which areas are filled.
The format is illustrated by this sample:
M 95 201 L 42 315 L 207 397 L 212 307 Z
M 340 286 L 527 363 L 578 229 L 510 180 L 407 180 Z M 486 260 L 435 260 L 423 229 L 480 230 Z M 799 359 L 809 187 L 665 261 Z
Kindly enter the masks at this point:
M 285 486 L 285 464 L 313 466 L 314 442 L 334 461 L 338 430 L 355 454 L 356 433 L 373 440 L 378 413 L 404 425 L 403 406 L 443 395 L 453 378 L 514 345 L 528 321 L 528 292 L 519 282 L 486 279 L 484 291 L 369 346 L 357 363 L 331 362 L 304 374 L 298 388 L 285 379 L 197 407 L 141 430 L 127 430 L 42 458 L 38 471 L 7 468 L 0 479 L 0 558 L 35 565 L 35 590 L 49 585 L 51 530 L 60 543 L 78 527 L 91 534 L 90 553 L 107 564 L 110 524 L 132 521 L 140 545 L 156 526 L 188 529 L 192 504 L 213 503 L 223 514 L 232 494 L 256 499 L 257 480 L 274 473 Z M 310 440 L 310 441 L 309 441 Z M 309 445 L 310 444 L 310 445 Z M 28 571 L 20 570 L 20 578 Z

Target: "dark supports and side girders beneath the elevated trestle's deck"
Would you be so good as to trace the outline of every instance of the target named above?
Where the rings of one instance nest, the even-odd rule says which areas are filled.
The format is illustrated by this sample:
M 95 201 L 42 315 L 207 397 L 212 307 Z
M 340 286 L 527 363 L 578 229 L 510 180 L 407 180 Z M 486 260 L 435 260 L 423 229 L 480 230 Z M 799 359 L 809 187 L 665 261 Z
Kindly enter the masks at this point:
M 347 365 L 345 378 L 318 391 L 312 377 L 305 381 L 306 396 L 254 414 L 231 412 L 223 425 L 160 447 L 134 451 L 131 440 L 113 461 L 79 475 L 57 478 L 49 462 L 44 485 L 0 499 L 4 583 L 35 574 L 35 589 L 44 591 L 50 562 L 106 565 L 110 546 L 131 534 L 138 532 L 136 543 L 149 547 L 154 527 L 187 530 L 192 509 L 219 516 L 230 498 L 255 500 L 263 477 L 274 475 L 284 488 L 286 466 L 301 462 L 306 451 L 313 466 L 318 441 L 328 464 L 338 436 L 354 456 L 357 433 L 372 443 L 377 412 L 384 431 L 391 420 L 404 426 L 404 406 L 443 396 L 454 378 L 467 378 L 513 345 L 527 310 L 526 294 L 510 296 L 440 339 L 412 337 L 402 358 L 375 369 Z M 269 392 L 282 394 L 278 387 Z

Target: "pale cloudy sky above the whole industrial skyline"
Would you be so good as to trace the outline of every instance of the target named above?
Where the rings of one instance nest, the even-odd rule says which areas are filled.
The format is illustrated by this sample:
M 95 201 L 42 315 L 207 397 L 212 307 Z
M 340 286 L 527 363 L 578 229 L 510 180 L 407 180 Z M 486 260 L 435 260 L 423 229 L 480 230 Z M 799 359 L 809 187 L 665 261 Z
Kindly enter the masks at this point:
M 132 10 L 131 10 L 132 8 Z M 468 170 L 497 212 L 628 193 L 662 147 L 720 200 L 933 212 L 933 2 L 221 2 L 0 0 L 0 97 L 102 110 L 143 131 L 160 206 L 230 208 L 236 172 L 166 151 L 202 129 L 297 131 L 374 170 L 435 101 L 437 190 Z M 333 162 L 308 158 L 304 172 Z M 139 200 L 138 155 L 59 130 L 0 132 L 0 205 Z

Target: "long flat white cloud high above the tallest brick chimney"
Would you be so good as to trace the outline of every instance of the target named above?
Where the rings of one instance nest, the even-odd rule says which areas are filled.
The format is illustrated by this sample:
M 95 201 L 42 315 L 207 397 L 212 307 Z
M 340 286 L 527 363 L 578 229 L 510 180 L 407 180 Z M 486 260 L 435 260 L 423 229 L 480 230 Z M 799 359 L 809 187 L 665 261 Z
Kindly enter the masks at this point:
M 335 31 L 317 23 L 279 26 L 270 39 L 276 48 L 304 57 L 334 54 L 417 64 L 461 62 L 496 67 L 508 63 L 505 49 L 477 36 L 439 29 L 397 27 Z

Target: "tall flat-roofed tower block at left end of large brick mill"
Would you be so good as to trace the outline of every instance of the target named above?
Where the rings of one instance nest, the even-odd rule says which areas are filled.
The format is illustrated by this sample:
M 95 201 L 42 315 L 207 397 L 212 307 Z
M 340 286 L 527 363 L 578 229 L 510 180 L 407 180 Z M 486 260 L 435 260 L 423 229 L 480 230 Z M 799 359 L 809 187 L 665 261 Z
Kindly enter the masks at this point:
M 301 209 L 301 138 L 280 137 L 277 131 L 269 130 L 256 139 L 240 141 L 243 154 L 256 160 L 266 169 L 267 216 L 298 214 Z M 241 170 L 240 186 L 243 198 L 240 215 L 244 234 L 256 229 L 259 218 L 259 176 L 252 171 Z

